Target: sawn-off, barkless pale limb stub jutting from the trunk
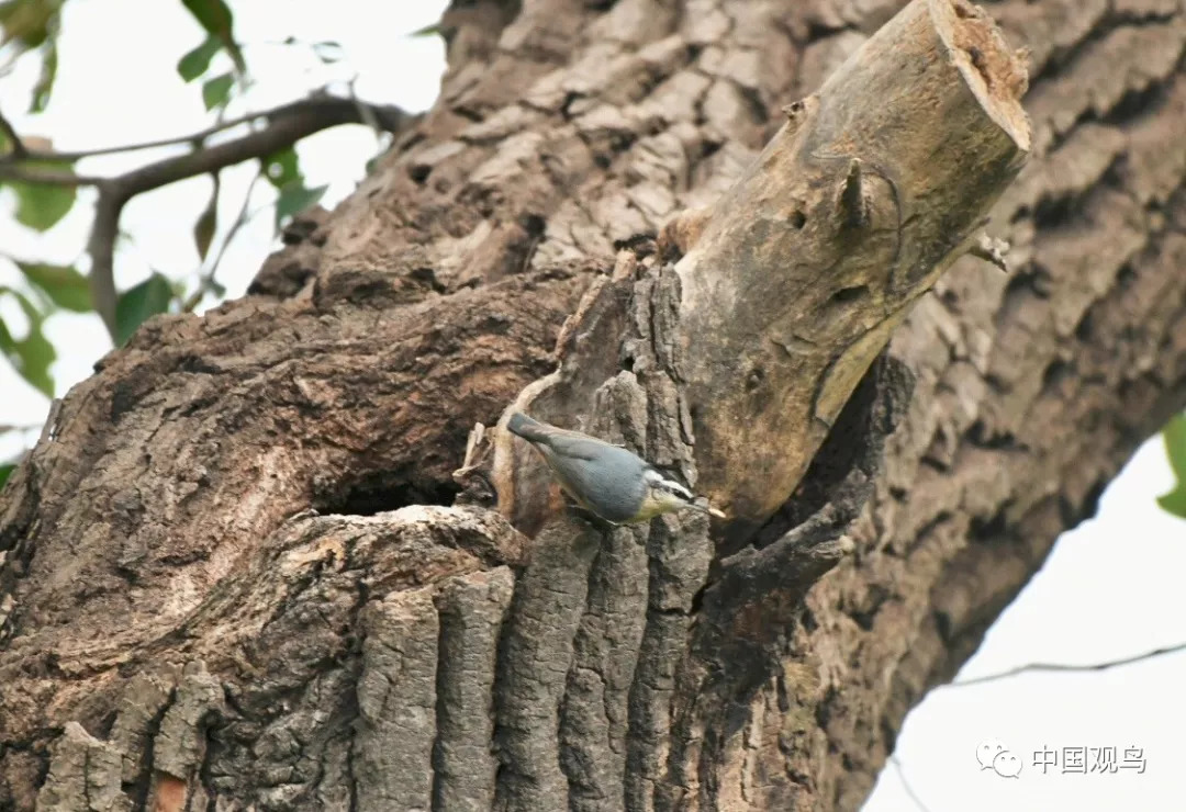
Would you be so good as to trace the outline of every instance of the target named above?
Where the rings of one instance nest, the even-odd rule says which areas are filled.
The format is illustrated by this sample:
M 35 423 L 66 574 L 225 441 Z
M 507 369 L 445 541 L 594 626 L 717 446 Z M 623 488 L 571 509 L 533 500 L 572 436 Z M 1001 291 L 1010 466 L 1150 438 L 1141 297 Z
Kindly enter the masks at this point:
M 963 0 L 913 2 L 723 196 L 676 266 L 701 488 L 760 525 L 910 307 L 1021 168 L 1025 68 Z

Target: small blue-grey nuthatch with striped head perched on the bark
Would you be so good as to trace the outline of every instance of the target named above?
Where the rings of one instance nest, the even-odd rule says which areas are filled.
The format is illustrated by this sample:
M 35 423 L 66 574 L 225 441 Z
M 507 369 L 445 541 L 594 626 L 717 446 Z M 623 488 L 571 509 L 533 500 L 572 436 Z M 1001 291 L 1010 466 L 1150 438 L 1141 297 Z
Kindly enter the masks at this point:
M 696 494 L 625 448 L 519 411 L 506 428 L 540 452 L 576 504 L 611 524 L 646 522 L 684 507 L 725 518 L 714 507 L 697 505 Z

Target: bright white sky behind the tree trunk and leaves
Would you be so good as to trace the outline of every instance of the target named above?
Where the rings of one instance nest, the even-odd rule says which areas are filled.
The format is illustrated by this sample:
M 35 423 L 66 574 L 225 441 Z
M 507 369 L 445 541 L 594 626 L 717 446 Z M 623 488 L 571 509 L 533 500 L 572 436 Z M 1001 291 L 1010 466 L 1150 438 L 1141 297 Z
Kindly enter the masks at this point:
M 362 98 L 427 108 L 444 69 L 440 41 L 401 34 L 433 23 L 444 5 L 441 0 L 336 0 L 333 13 L 326 14 L 324 0 L 234 2 L 236 28 L 257 84 L 231 115 L 298 98 L 327 77 L 340 81 L 353 70 L 361 77 Z M 44 115 L 19 114 L 36 79 L 33 60 L 0 79 L 0 109 L 23 134 L 50 136 L 62 149 L 83 149 L 181 135 L 210 123 L 200 83 L 185 85 L 174 70 L 180 55 L 203 38 L 180 2 L 72 0 L 66 4 L 63 32 L 58 82 Z M 302 52 L 267 44 L 288 36 L 339 41 L 350 68 L 327 75 Z M 217 65 L 212 72 L 219 72 Z M 332 206 L 350 193 L 376 145 L 364 127 L 340 127 L 300 145 L 308 184 L 330 184 L 324 204 Z M 93 159 L 79 171 L 117 172 L 166 154 Z M 223 173 L 221 228 L 234 219 L 251 174 L 244 167 Z M 270 187 L 264 186 L 257 186 L 253 207 L 270 200 Z M 193 277 L 198 257 L 191 229 L 209 191 L 208 179 L 193 179 L 145 194 L 125 209 L 121 224 L 133 241 L 117 256 L 121 288 L 144 279 L 151 268 L 173 279 Z M 11 205 L 4 193 L 0 207 L 7 212 Z M 51 232 L 34 235 L 5 213 L 0 251 L 74 262 L 83 254 L 89 217 L 88 206 L 78 205 Z M 216 247 L 219 241 L 216 237 Z M 264 211 L 240 232 L 224 260 L 219 279 L 230 296 L 242 295 L 273 248 L 270 212 Z M 0 284 L 20 284 L 19 274 L 2 261 Z M 0 296 L 0 313 L 15 318 L 8 298 Z M 46 331 L 59 350 L 53 367 L 59 395 L 87 377 L 110 349 L 94 315 L 56 315 Z M 0 362 L 0 424 L 37 426 L 47 405 Z M 14 456 L 23 442 L 36 436 L 31 430 L 24 437 L 0 440 L 0 460 Z M 1161 445 L 1150 440 L 1109 487 L 1099 516 L 1059 539 L 1050 561 L 997 620 L 961 676 L 1032 661 L 1095 663 L 1186 640 L 1186 522 L 1166 516 L 1154 501 L 1171 482 Z M 930 812 L 1181 810 L 1182 686 L 1186 656 L 1174 654 L 1105 672 L 1025 674 L 937 690 L 907 718 L 897 755 Z M 1020 776 L 980 769 L 976 748 L 994 739 L 1021 756 Z M 1033 755 L 1047 747 L 1059 753 L 1059 762 L 1042 775 Z M 1115 747 L 1118 760 L 1126 748 L 1142 748 L 1146 772 L 1063 774 L 1061 749 L 1076 747 Z M 887 767 L 865 812 L 912 810 L 919 806 L 904 791 L 897 771 Z

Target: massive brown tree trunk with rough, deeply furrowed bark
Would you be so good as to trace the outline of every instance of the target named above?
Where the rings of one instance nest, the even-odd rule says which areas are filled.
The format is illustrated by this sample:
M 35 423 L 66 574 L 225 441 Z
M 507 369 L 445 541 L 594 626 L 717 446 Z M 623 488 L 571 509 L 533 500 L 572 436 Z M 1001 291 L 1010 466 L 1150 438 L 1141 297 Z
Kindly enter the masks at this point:
M 1029 49 L 1032 158 L 993 210 L 1015 270 L 942 277 L 1005 141 L 948 145 L 974 162 L 942 192 L 891 149 L 931 130 L 803 160 L 847 132 L 809 95 L 903 5 L 457 4 L 441 100 L 380 171 L 244 300 L 104 358 L 6 487 L 0 808 L 856 808 L 908 708 L 1186 402 L 1182 4 L 988 6 Z M 968 87 L 999 79 L 981 96 L 1020 90 L 950 44 Z M 687 213 L 751 166 L 797 171 Z M 721 226 L 748 212 L 765 256 Z M 885 261 L 796 254 L 841 237 Z M 773 344 L 719 390 L 704 317 L 753 302 L 697 283 L 770 258 L 793 295 L 738 325 Z M 497 430 L 454 479 L 514 401 L 734 520 L 601 533 Z

